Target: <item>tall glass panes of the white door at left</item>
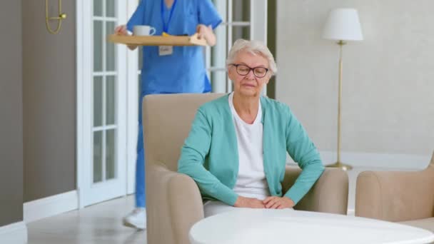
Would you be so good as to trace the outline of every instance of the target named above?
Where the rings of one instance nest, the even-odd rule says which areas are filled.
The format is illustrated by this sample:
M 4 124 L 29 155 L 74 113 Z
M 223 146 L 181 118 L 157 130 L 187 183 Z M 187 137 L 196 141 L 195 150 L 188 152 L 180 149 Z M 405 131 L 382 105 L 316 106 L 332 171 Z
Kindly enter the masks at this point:
M 93 183 L 116 178 L 116 49 L 105 36 L 116 26 L 115 2 L 94 0 Z

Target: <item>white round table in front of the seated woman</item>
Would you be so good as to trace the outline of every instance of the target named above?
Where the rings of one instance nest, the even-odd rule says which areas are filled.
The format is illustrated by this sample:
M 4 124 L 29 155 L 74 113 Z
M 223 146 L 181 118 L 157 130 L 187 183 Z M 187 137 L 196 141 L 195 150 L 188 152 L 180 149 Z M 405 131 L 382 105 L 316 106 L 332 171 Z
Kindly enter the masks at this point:
M 428 230 L 369 218 L 298 210 L 239 208 L 204 218 L 190 230 L 191 244 L 434 242 Z

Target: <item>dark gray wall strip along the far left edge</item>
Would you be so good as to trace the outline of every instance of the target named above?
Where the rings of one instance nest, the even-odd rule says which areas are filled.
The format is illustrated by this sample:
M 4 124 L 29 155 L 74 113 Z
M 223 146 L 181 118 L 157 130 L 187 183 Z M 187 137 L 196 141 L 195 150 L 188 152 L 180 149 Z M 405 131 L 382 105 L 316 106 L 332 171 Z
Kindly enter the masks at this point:
M 21 1 L 0 1 L 0 226 L 23 220 Z

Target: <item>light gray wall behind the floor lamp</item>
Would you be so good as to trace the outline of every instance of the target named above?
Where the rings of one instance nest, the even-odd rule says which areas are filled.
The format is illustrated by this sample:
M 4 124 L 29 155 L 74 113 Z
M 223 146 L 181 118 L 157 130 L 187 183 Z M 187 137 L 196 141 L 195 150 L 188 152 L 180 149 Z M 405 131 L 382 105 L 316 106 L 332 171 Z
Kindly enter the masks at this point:
M 429 156 L 432 0 L 278 0 L 276 97 L 293 108 L 320 150 L 335 151 L 338 45 L 321 32 L 337 7 L 358 9 L 365 37 L 344 46 L 342 150 Z

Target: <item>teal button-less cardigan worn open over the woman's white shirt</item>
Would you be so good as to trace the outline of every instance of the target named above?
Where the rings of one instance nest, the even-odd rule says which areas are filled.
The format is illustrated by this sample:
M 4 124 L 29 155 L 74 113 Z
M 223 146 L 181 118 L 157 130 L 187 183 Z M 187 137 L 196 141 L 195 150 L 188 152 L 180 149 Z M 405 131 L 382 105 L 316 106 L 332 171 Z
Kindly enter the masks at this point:
M 284 193 L 298 203 L 324 171 L 321 158 L 301 123 L 288 106 L 261 97 L 263 168 L 271 195 L 282 196 L 286 152 L 302 169 L 296 183 Z M 238 177 L 238 148 L 228 95 L 203 104 L 178 161 L 178 172 L 196 181 L 204 199 L 234 205 L 232 190 Z

